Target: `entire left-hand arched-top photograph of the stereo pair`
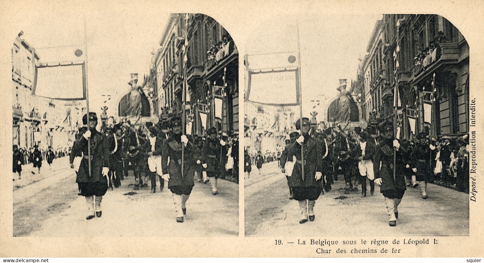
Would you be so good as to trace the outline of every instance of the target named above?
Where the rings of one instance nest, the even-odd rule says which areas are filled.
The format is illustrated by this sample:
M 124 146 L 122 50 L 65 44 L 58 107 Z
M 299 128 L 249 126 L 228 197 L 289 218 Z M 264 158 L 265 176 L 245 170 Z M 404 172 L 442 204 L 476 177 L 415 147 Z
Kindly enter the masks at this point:
M 229 32 L 202 14 L 64 20 L 12 46 L 13 236 L 238 236 Z

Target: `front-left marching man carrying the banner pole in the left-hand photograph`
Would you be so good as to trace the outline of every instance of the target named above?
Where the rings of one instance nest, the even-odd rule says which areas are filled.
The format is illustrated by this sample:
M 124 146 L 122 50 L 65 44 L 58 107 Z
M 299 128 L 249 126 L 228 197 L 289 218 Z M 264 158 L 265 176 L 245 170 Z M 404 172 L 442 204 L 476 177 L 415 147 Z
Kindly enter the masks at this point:
M 96 130 L 97 116 L 96 113 L 89 113 L 89 123 L 87 114 L 82 117 L 82 123 L 89 125 L 89 129 L 84 132 L 79 139 L 76 140 L 72 148 L 73 156 L 82 152 L 83 158 L 77 172 L 76 182 L 81 188 L 81 195 L 86 197 L 88 204 L 88 215 L 86 219 L 94 217 L 101 217 L 101 201 L 107 191 L 107 176 L 109 173 L 109 141 L 106 136 Z M 88 138 L 91 142 L 91 172 L 89 170 L 88 157 Z M 74 163 L 71 162 L 71 168 L 74 168 Z M 93 201 L 95 199 L 95 209 Z

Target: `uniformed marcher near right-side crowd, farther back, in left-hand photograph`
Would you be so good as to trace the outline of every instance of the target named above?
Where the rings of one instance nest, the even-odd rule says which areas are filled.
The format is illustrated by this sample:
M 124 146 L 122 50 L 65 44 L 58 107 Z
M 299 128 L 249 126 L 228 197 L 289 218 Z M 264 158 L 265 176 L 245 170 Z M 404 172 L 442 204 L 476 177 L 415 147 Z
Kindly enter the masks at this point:
M 222 140 L 217 141 L 217 131 L 215 127 L 207 130 L 209 138 L 205 142 L 202 150 L 203 160 L 202 166 L 210 177 L 210 186 L 212 187 L 212 194 L 218 194 L 217 180 L 219 177 L 220 167 L 220 145 Z

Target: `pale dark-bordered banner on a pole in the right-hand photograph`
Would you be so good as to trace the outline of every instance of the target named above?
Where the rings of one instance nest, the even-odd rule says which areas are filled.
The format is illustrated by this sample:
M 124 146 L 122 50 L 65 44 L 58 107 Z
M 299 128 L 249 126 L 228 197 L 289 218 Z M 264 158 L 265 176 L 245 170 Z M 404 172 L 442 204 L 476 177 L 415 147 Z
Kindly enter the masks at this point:
M 269 72 L 249 71 L 246 101 L 275 106 L 299 105 L 298 71 L 278 70 Z

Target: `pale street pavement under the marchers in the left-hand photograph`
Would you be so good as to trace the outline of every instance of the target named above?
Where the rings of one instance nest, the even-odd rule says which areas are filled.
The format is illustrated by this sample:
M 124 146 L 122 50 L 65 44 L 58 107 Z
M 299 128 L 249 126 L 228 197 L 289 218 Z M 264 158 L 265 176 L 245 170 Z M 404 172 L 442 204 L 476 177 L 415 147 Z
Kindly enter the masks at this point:
M 14 183 L 14 236 L 233 236 L 239 227 L 239 187 L 218 180 L 219 194 L 195 183 L 187 201 L 185 222 L 177 223 L 171 192 L 150 193 L 150 187 L 133 190 L 135 179 L 121 181 L 102 201 L 102 217 L 86 220 L 86 201 L 77 195 L 76 173 L 68 157 L 54 160 L 52 170 L 40 175 L 25 165 Z M 126 195 L 127 193 L 136 193 Z

